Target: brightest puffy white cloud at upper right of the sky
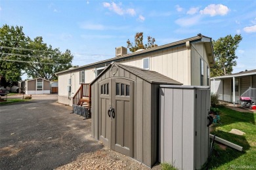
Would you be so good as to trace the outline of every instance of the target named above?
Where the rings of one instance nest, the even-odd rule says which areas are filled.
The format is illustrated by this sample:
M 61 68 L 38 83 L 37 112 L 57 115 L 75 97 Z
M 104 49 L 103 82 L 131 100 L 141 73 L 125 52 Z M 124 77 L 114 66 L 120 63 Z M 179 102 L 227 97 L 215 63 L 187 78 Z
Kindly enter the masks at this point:
M 201 14 L 209 14 L 210 16 L 221 15 L 224 16 L 228 13 L 229 9 L 222 4 L 211 4 L 205 7 L 205 9 L 200 10 Z

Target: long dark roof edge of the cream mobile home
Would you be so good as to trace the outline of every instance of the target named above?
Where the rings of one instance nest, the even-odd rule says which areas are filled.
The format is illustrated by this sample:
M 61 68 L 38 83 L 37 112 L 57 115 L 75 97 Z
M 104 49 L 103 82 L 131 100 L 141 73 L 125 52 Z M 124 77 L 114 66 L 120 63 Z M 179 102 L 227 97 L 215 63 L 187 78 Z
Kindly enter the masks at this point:
M 142 51 L 139 51 L 139 52 L 133 52 L 131 54 L 125 54 L 123 56 L 116 56 L 114 58 L 105 59 L 103 61 L 98 61 L 96 63 L 91 63 L 91 64 L 88 64 L 88 65 L 83 65 L 83 66 L 80 66 L 80 67 L 74 67 L 72 69 L 60 71 L 58 73 L 55 73 L 55 75 L 58 76 L 60 73 L 66 73 L 66 72 L 70 72 L 70 71 L 74 71 L 74 70 L 79 71 L 81 69 L 85 69 L 85 68 L 89 68 L 89 67 L 96 67 L 97 65 L 108 64 L 108 63 L 111 63 L 112 61 L 115 61 L 115 62 L 116 61 L 121 61 L 121 60 L 124 60 L 124 59 L 127 59 L 127 58 L 137 57 L 140 54 L 146 54 L 148 52 L 155 52 L 157 50 L 162 50 L 164 48 L 171 48 L 171 47 L 175 47 L 175 46 L 186 45 L 186 42 L 190 42 L 190 43 L 205 42 L 205 48 L 207 50 L 207 56 L 208 56 L 208 59 L 209 59 L 210 67 L 214 66 L 215 61 L 214 61 L 214 56 L 213 56 L 213 46 L 212 46 L 212 43 L 211 43 L 211 38 L 205 37 L 202 34 L 198 34 L 195 37 L 191 37 L 191 38 L 184 39 L 184 40 L 181 40 L 181 41 L 176 41 L 176 42 L 172 42 L 172 43 L 165 44 L 165 45 L 162 45 L 162 46 L 156 46 L 156 47 L 153 47 L 153 48 L 148 48 L 146 50 L 142 50 Z

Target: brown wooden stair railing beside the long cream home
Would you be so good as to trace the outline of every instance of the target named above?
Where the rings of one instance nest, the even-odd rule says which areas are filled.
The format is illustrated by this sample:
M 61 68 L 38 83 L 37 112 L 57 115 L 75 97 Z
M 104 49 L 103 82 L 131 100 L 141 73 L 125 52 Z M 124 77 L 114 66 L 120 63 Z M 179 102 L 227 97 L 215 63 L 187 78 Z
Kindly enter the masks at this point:
M 86 98 L 83 98 L 86 97 Z M 91 109 L 91 86 L 90 84 L 81 84 L 77 92 L 73 97 L 74 105 L 83 105 L 87 103 L 89 109 Z

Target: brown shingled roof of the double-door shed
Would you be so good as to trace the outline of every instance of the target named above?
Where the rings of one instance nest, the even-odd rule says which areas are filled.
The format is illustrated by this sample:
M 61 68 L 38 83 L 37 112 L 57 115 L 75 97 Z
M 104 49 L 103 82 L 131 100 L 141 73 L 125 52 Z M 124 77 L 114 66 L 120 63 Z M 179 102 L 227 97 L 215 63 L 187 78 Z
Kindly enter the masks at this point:
M 112 62 L 108 67 L 98 75 L 93 82 L 95 82 L 102 74 L 104 74 L 108 69 L 110 69 L 112 66 L 117 65 L 117 67 L 121 67 L 122 69 L 129 71 L 130 73 L 139 76 L 143 80 L 146 80 L 147 82 L 151 84 L 172 84 L 172 85 L 182 85 L 181 82 L 178 82 L 176 80 L 173 80 L 172 78 L 169 78 L 165 75 L 161 75 L 160 73 L 156 71 L 150 71 L 146 69 L 140 69 L 139 67 L 133 67 L 130 65 L 123 65 L 120 63 Z M 91 84 L 93 84 L 91 82 Z

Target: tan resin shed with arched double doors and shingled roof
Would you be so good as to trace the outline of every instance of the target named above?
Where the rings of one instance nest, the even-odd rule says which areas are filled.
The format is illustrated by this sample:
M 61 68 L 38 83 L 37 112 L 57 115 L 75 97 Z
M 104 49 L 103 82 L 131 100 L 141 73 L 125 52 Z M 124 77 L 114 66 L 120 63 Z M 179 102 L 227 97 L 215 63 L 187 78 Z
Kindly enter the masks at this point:
M 91 82 L 92 136 L 152 167 L 158 161 L 160 84 L 156 71 L 112 62 Z

